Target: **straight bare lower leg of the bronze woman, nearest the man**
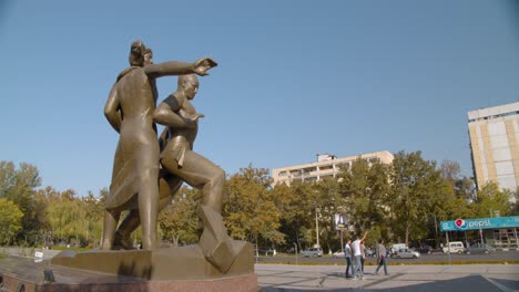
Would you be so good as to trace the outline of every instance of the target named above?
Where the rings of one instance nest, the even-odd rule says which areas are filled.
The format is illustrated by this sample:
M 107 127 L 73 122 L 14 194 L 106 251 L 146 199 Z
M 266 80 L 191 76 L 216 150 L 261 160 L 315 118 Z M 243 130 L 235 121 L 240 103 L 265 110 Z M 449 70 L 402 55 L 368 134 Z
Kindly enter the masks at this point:
M 159 248 L 156 218 L 159 215 L 159 168 L 150 168 L 141 175 L 139 187 L 139 215 L 142 223 L 142 248 Z

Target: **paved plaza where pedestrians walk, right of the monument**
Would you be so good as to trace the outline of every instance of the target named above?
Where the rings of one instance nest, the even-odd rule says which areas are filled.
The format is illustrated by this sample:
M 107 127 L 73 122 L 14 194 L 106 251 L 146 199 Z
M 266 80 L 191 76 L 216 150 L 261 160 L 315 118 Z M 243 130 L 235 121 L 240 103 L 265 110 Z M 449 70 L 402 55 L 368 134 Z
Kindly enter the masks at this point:
M 258 284 L 272 291 L 519 291 L 519 264 L 365 267 L 365 280 L 345 279 L 345 265 L 256 264 Z

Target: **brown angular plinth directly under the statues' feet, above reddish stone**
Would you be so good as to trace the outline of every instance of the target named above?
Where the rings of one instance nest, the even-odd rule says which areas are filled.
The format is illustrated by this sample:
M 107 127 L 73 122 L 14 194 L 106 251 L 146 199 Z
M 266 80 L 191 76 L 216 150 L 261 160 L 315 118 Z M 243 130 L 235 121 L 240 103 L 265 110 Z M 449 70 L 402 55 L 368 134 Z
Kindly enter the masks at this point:
M 204 258 L 197 246 L 161 248 L 153 251 L 63 251 L 52 265 L 126 275 L 145 280 L 208 280 L 254 273 L 253 246 L 245 241 L 231 241 L 236 258 L 226 273 L 220 272 Z

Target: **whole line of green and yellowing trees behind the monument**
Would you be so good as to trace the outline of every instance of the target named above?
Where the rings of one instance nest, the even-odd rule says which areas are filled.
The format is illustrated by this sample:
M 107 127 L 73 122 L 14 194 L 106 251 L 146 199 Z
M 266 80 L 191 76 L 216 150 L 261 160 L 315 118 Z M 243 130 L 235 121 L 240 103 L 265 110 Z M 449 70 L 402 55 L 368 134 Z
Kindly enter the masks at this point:
M 79 197 L 74 190 L 41 188 L 37 167 L 0 161 L 0 244 L 99 246 L 108 189 Z M 298 250 L 316 243 L 326 251 L 340 249 L 342 238 L 369 230 L 367 246 L 378 238 L 408 246 L 441 241 L 439 222 L 456 218 L 517 215 L 509 201 L 518 191 L 488 184 L 476 191 L 459 164 L 437 165 L 420 152 L 395 154 L 393 164 L 357 158 L 335 178 L 273 185 L 269 170 L 250 165 L 227 177 L 223 217 L 232 238 L 260 249 Z M 517 201 L 517 200 L 516 200 Z M 183 187 L 160 215 L 164 244 L 196 243 L 201 233 L 196 207 L 201 194 Z M 348 230 L 335 230 L 334 217 L 344 213 Z M 477 238 L 477 234 L 469 233 Z M 140 242 L 140 230 L 132 236 Z M 465 237 L 465 236 L 464 236 Z

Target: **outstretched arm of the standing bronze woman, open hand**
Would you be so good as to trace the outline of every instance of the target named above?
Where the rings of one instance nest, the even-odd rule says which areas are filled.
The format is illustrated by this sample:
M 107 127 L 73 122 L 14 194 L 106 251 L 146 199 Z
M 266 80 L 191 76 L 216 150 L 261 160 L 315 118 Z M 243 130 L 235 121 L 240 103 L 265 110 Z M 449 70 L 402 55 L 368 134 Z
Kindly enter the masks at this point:
M 143 70 L 146 75 L 152 79 L 193 73 L 204 76 L 208 74 L 207 70 L 214 66 L 217 66 L 217 63 L 213 59 L 202 58 L 194 63 L 170 61 L 159 64 L 145 65 Z

